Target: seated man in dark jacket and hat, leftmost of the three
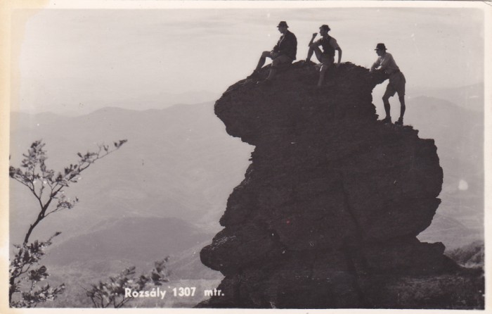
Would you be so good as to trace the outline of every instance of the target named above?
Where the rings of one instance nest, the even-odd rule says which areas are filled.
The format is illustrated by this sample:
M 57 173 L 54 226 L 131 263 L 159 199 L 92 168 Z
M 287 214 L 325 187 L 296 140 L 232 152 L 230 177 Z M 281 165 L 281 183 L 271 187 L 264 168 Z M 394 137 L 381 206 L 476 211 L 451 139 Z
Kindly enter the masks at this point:
M 289 32 L 289 27 L 285 21 L 278 23 L 278 31 L 282 34 L 278 39 L 277 44 L 273 47 L 272 51 L 263 51 L 259 58 L 257 68 L 253 71 L 251 77 L 258 75 L 258 71 L 265 64 L 266 58 L 271 58 L 271 68 L 268 77 L 264 82 L 271 82 L 273 76 L 276 73 L 278 65 L 281 63 L 292 63 L 295 60 L 297 54 L 297 38 L 292 32 Z

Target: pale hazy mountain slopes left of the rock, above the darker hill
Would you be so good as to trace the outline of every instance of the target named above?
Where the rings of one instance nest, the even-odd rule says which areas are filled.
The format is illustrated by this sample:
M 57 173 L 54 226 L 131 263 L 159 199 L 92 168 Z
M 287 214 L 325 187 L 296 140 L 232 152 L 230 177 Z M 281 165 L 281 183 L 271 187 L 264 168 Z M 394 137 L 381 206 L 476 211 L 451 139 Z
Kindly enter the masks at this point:
M 64 226 L 84 232 L 98 220 L 124 215 L 191 219 L 212 227 L 207 216 L 220 215 L 233 184 L 242 180 L 235 170 L 246 167 L 250 152 L 226 136 L 212 103 L 150 111 L 103 108 L 80 117 L 13 113 L 11 120 L 13 165 L 36 139 L 46 142 L 46 163 L 56 170 L 76 161 L 79 151 L 97 150 L 99 143 L 129 141 L 67 190 L 80 203 L 70 213 L 42 222 L 37 230 L 42 237 Z M 24 218 L 34 205 L 23 188 L 11 182 L 11 230 L 18 234 L 26 230 Z M 11 236 L 14 243 L 20 239 L 15 232 Z

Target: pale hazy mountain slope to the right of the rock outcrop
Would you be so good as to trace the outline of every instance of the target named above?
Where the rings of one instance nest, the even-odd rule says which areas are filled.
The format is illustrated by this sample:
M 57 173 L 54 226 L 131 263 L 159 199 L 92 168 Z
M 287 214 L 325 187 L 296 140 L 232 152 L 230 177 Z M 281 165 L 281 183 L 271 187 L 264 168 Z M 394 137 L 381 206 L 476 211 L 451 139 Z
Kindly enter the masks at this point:
M 420 96 L 408 101 L 406 123 L 414 125 L 420 137 L 436 142 L 444 169 L 438 213 L 472 229 L 483 228 L 483 115 L 443 99 Z M 461 181 L 467 182 L 467 189 L 460 189 Z

